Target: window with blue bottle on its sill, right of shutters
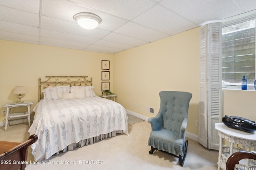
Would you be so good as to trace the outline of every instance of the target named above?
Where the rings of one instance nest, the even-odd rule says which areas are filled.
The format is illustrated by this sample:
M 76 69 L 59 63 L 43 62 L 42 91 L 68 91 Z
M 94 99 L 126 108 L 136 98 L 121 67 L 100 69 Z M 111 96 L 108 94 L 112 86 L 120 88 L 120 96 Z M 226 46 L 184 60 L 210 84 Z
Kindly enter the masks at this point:
M 241 89 L 246 76 L 247 90 L 254 90 L 256 19 L 222 27 L 222 88 Z

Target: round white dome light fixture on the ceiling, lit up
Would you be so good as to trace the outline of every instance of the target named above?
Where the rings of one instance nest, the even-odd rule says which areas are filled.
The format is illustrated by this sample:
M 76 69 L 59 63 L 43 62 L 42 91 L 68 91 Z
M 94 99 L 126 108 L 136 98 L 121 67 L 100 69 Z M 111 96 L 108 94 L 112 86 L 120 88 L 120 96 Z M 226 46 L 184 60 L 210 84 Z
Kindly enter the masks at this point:
M 81 12 L 74 15 L 74 20 L 85 29 L 94 29 L 101 23 L 101 18 L 89 12 Z

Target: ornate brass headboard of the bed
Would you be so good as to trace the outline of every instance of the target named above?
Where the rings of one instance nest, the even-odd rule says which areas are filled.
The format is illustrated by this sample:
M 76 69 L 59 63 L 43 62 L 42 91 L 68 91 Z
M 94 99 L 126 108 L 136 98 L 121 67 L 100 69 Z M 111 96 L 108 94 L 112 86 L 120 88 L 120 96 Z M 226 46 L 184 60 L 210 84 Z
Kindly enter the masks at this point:
M 45 76 L 48 80 L 42 82 L 39 78 L 38 102 L 44 98 L 42 91 L 49 86 L 92 86 L 92 78 L 87 80 L 88 76 Z

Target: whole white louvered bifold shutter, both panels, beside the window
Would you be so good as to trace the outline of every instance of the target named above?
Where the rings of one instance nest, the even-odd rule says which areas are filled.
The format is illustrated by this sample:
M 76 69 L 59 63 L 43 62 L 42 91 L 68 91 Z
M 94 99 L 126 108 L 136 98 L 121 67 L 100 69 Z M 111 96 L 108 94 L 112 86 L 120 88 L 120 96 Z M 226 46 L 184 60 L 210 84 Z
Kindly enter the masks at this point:
M 222 117 L 222 23 L 200 29 L 200 91 L 198 141 L 209 149 L 219 149 L 215 123 Z

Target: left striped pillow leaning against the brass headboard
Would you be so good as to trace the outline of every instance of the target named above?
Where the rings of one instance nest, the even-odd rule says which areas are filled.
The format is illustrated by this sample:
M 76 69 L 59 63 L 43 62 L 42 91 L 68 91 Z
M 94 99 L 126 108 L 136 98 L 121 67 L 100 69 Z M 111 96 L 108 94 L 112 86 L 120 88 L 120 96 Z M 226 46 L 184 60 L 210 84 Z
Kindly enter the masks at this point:
M 56 86 L 56 87 L 48 87 L 43 90 L 44 100 L 54 100 L 60 99 L 62 97 L 62 93 L 69 93 L 70 86 Z

